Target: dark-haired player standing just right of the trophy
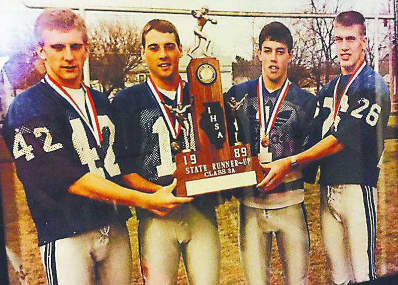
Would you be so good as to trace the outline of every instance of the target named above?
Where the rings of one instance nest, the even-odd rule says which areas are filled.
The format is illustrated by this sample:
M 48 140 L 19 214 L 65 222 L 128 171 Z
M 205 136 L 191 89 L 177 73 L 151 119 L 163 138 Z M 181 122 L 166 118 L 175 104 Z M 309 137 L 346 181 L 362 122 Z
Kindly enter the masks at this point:
M 246 97 L 235 112 L 237 139 L 250 143 L 252 155 L 258 156 L 260 163 L 284 158 L 308 147 L 316 98 L 288 78 L 292 47 L 292 35 L 284 24 L 265 25 L 259 35 L 261 76 L 233 86 L 225 97 L 227 102 Z M 233 120 L 228 118 L 231 140 L 235 138 Z M 270 283 L 273 234 L 284 267 L 285 283 L 307 283 L 309 236 L 300 170 L 273 191 L 245 189 L 240 198 L 239 230 L 247 284 Z

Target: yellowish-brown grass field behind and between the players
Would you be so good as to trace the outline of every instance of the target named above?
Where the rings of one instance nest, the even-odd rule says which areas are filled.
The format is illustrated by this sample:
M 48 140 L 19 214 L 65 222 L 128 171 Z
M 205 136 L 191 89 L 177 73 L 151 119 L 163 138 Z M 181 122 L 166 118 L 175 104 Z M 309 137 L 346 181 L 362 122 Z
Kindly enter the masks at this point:
M 391 124 L 397 125 L 397 117 Z M 20 284 L 18 274 L 24 284 L 45 284 L 45 275 L 36 246 L 36 230 L 30 218 L 25 202 L 23 189 L 13 172 L 12 164 L 0 163 L 0 181 L 4 222 L 6 228 L 6 245 L 16 256 L 14 267 L 9 263 L 11 284 Z M 383 156 L 382 174 L 379 180 L 378 207 L 378 241 L 377 269 L 379 275 L 398 273 L 398 140 L 386 141 Z M 311 239 L 309 278 L 310 284 L 325 284 L 329 280 L 326 272 L 326 257 L 319 233 L 319 194 L 317 185 L 308 185 L 305 203 L 308 212 L 308 224 Z M 217 208 L 217 219 L 221 239 L 221 284 L 244 284 L 238 252 L 238 202 L 232 200 Z M 128 222 L 133 252 L 132 284 L 142 284 L 137 251 L 137 222 L 132 218 Z M 271 284 L 282 285 L 282 267 L 278 253 L 274 247 L 272 252 Z M 18 262 L 20 264 L 18 264 Z M 20 265 L 20 267 L 18 266 Z M 180 263 L 179 285 L 187 284 L 184 269 Z

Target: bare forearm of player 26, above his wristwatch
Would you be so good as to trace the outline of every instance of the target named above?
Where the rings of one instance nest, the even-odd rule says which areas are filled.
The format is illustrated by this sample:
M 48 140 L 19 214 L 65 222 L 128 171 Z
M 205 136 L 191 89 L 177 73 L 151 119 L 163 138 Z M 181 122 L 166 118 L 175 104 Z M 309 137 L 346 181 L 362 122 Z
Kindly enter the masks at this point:
M 343 144 L 341 144 L 334 136 L 329 135 L 311 148 L 299 153 L 296 156 L 296 161 L 299 166 L 304 166 L 326 156 L 336 154 L 342 151 L 343 148 Z

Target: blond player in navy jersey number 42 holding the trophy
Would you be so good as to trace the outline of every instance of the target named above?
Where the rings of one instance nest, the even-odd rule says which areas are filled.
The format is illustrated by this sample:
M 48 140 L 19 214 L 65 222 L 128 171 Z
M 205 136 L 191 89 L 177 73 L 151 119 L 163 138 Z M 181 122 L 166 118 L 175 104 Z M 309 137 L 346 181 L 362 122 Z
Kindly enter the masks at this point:
M 190 199 L 173 185 L 149 194 L 118 186 L 107 98 L 82 82 L 89 55 L 83 19 L 45 9 L 34 25 L 45 78 L 12 102 L 3 136 L 38 233 L 48 284 L 130 284 L 127 206 L 165 215 Z

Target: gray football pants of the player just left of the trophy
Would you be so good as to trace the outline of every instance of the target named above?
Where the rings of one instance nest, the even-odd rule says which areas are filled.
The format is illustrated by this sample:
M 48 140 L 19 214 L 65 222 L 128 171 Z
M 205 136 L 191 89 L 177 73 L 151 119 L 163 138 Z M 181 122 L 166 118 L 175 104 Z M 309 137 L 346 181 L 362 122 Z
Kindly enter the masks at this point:
M 141 272 L 146 285 L 177 284 L 182 255 L 190 285 L 217 285 L 220 240 L 214 208 L 184 204 L 167 217 L 139 218 Z

